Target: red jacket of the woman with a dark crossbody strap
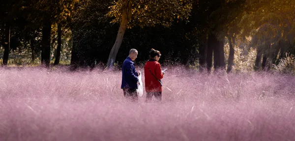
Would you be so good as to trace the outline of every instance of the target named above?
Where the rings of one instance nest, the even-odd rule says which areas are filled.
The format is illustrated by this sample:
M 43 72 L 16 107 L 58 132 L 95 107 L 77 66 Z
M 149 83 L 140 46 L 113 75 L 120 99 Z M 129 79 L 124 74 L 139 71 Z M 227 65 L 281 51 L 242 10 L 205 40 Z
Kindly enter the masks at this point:
M 146 92 L 162 92 L 160 82 L 150 73 L 149 69 L 159 80 L 163 78 L 160 63 L 153 58 L 149 59 L 145 65 Z

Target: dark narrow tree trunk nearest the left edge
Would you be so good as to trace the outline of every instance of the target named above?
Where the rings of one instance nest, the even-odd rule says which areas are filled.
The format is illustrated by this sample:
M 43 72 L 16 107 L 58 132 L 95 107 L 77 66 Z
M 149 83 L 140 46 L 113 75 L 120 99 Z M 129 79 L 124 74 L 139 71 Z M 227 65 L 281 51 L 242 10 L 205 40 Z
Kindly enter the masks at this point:
M 10 50 L 10 26 L 6 25 L 5 30 L 5 45 L 4 45 L 4 53 L 3 53 L 3 66 L 7 66 L 8 63 L 8 56 L 9 56 L 9 50 Z

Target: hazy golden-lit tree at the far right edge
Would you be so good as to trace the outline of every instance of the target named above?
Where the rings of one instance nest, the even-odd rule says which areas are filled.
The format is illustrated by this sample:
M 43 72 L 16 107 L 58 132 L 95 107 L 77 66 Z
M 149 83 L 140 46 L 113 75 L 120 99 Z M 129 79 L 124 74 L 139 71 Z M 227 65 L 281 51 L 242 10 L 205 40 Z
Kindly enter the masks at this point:
M 261 70 L 263 59 L 263 70 L 268 70 L 271 62 L 277 62 L 279 52 L 282 56 L 290 51 L 286 46 L 295 41 L 295 1 L 248 0 L 247 6 L 238 25 L 242 27 L 240 35 L 253 36 L 251 46 L 257 48 L 254 69 Z

